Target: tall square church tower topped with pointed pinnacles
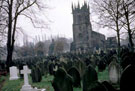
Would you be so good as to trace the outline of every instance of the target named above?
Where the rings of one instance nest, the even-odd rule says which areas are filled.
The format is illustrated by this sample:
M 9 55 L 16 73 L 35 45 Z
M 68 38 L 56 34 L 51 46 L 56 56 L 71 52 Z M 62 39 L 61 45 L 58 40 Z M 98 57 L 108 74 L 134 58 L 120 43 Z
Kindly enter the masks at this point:
M 76 50 L 88 50 L 91 47 L 91 22 L 89 6 L 84 3 L 80 8 L 72 6 L 73 13 L 73 40 L 72 45 Z

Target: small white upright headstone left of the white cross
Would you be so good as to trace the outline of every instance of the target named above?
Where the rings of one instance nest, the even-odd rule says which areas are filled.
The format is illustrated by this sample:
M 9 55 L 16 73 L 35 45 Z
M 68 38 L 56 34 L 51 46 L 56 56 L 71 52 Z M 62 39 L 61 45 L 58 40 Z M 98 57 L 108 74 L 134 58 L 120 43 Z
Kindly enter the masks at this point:
M 9 70 L 10 70 L 10 78 L 9 78 L 9 80 L 17 80 L 17 79 L 19 79 L 19 77 L 18 77 L 19 71 L 18 71 L 17 67 L 12 66 L 12 67 L 9 68 Z

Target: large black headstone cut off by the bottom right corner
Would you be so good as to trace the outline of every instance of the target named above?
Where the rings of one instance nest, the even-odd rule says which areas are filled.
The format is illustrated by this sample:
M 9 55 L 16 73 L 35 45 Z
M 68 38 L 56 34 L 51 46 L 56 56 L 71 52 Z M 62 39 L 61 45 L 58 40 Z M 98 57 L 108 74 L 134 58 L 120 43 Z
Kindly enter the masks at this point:
M 120 91 L 135 91 L 135 65 L 125 68 L 120 79 Z

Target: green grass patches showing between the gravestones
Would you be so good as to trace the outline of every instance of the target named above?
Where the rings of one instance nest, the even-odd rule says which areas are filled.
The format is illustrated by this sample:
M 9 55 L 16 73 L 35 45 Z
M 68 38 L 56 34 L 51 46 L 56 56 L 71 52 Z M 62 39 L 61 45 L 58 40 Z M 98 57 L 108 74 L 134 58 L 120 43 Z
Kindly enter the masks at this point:
M 108 69 L 103 72 L 98 72 L 98 78 L 99 81 L 108 80 Z M 7 76 L 5 78 L 0 78 L 0 82 L 2 79 L 6 79 L 4 86 L 2 87 L 2 91 L 20 91 L 23 85 L 23 79 L 10 81 L 9 76 Z M 32 87 L 46 88 L 46 91 L 54 91 L 51 85 L 52 80 L 53 76 L 48 75 L 47 77 L 43 77 L 41 82 L 32 83 L 31 77 L 29 77 L 29 81 Z M 82 88 L 74 88 L 74 91 L 82 91 Z

